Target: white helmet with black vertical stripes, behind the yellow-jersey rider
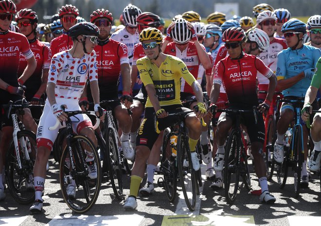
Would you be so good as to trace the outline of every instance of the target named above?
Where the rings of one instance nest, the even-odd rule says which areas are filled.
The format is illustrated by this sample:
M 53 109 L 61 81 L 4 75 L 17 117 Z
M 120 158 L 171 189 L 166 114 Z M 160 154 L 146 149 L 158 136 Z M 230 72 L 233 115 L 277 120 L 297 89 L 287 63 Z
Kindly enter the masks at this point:
M 179 18 L 175 21 L 175 26 L 171 31 L 171 37 L 175 43 L 183 44 L 192 37 L 191 30 L 188 29 L 187 20 Z

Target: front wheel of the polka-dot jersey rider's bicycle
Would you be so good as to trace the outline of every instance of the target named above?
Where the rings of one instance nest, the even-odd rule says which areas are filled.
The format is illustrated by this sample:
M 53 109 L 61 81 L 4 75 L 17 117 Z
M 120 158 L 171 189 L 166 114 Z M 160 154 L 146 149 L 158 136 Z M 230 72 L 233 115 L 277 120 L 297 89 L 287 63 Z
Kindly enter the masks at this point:
M 93 153 L 94 160 L 97 166 L 97 178 L 90 179 L 89 174 L 87 171 L 87 164 L 86 164 L 86 152 L 83 148 L 83 145 L 86 145 L 86 149 L 91 150 Z M 68 161 L 68 157 L 70 155 L 69 148 L 67 146 L 64 148 L 60 159 L 60 166 L 59 166 L 59 179 L 60 179 L 60 188 L 63 195 L 63 198 L 68 205 L 68 207 L 77 213 L 84 213 L 92 208 L 95 204 L 101 186 L 101 164 L 100 159 L 98 156 L 98 152 L 94 147 L 93 143 L 89 140 L 89 138 L 81 135 L 76 135 L 71 138 L 71 148 L 72 148 L 72 159 L 74 160 L 74 165 L 76 172 L 74 175 L 71 175 L 74 179 L 75 189 L 77 188 L 76 199 L 72 199 L 67 194 L 67 187 L 70 184 L 70 162 L 71 158 Z M 67 160 L 67 162 L 66 162 Z M 69 163 L 68 163 L 69 162 Z M 72 173 L 71 173 L 72 174 Z M 79 197 L 79 194 L 83 194 L 82 197 Z

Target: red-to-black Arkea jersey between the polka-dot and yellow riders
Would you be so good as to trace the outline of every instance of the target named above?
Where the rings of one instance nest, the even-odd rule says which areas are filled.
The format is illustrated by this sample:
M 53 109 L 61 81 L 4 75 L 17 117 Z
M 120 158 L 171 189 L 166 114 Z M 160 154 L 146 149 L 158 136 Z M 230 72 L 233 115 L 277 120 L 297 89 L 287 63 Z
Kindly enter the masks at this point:
M 95 46 L 97 55 L 98 84 L 101 93 L 117 92 L 122 64 L 129 64 L 124 43 L 108 39 Z

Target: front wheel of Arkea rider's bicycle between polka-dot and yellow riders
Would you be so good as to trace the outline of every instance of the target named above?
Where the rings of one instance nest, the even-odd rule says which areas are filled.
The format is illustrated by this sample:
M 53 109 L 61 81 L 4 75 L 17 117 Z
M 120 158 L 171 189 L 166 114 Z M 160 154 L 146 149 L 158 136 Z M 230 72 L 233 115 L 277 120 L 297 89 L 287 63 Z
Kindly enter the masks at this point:
M 106 141 L 108 144 L 106 145 L 105 158 L 107 158 L 109 178 L 114 194 L 120 200 L 123 199 L 123 172 L 114 130 L 111 128 L 107 128 Z

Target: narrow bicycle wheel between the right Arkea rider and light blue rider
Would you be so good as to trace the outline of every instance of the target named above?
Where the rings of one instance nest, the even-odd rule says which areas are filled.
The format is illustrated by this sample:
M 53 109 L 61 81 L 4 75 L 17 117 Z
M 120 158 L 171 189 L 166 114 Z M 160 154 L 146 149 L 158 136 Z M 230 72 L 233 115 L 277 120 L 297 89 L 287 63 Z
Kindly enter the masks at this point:
M 274 150 L 274 143 L 276 141 L 276 127 L 275 127 L 275 121 L 272 115 L 268 118 L 268 124 L 267 124 L 267 135 L 266 135 L 266 146 L 265 146 L 265 163 L 266 163 L 266 170 L 267 170 L 267 179 L 272 179 L 273 172 L 274 172 L 274 165 L 275 161 L 274 159 L 271 159 L 271 156 L 273 156 L 273 150 Z

